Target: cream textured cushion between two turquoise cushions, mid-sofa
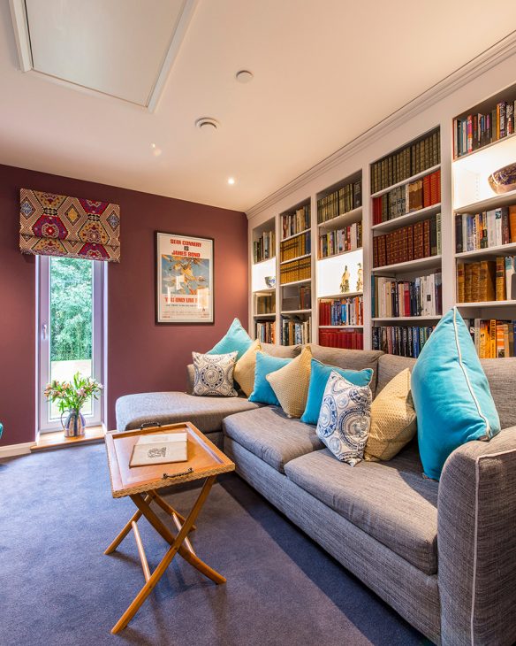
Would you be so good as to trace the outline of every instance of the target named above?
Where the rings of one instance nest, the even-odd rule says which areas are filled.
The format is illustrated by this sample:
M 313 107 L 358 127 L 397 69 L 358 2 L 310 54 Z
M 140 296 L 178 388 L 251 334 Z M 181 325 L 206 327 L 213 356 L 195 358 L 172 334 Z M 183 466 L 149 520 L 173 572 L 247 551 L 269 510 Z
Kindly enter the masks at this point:
M 274 373 L 269 373 L 266 377 L 270 388 L 277 396 L 277 401 L 288 417 L 301 417 L 305 411 L 310 385 L 311 360 L 310 346 L 306 346 L 290 364 L 284 365 Z

